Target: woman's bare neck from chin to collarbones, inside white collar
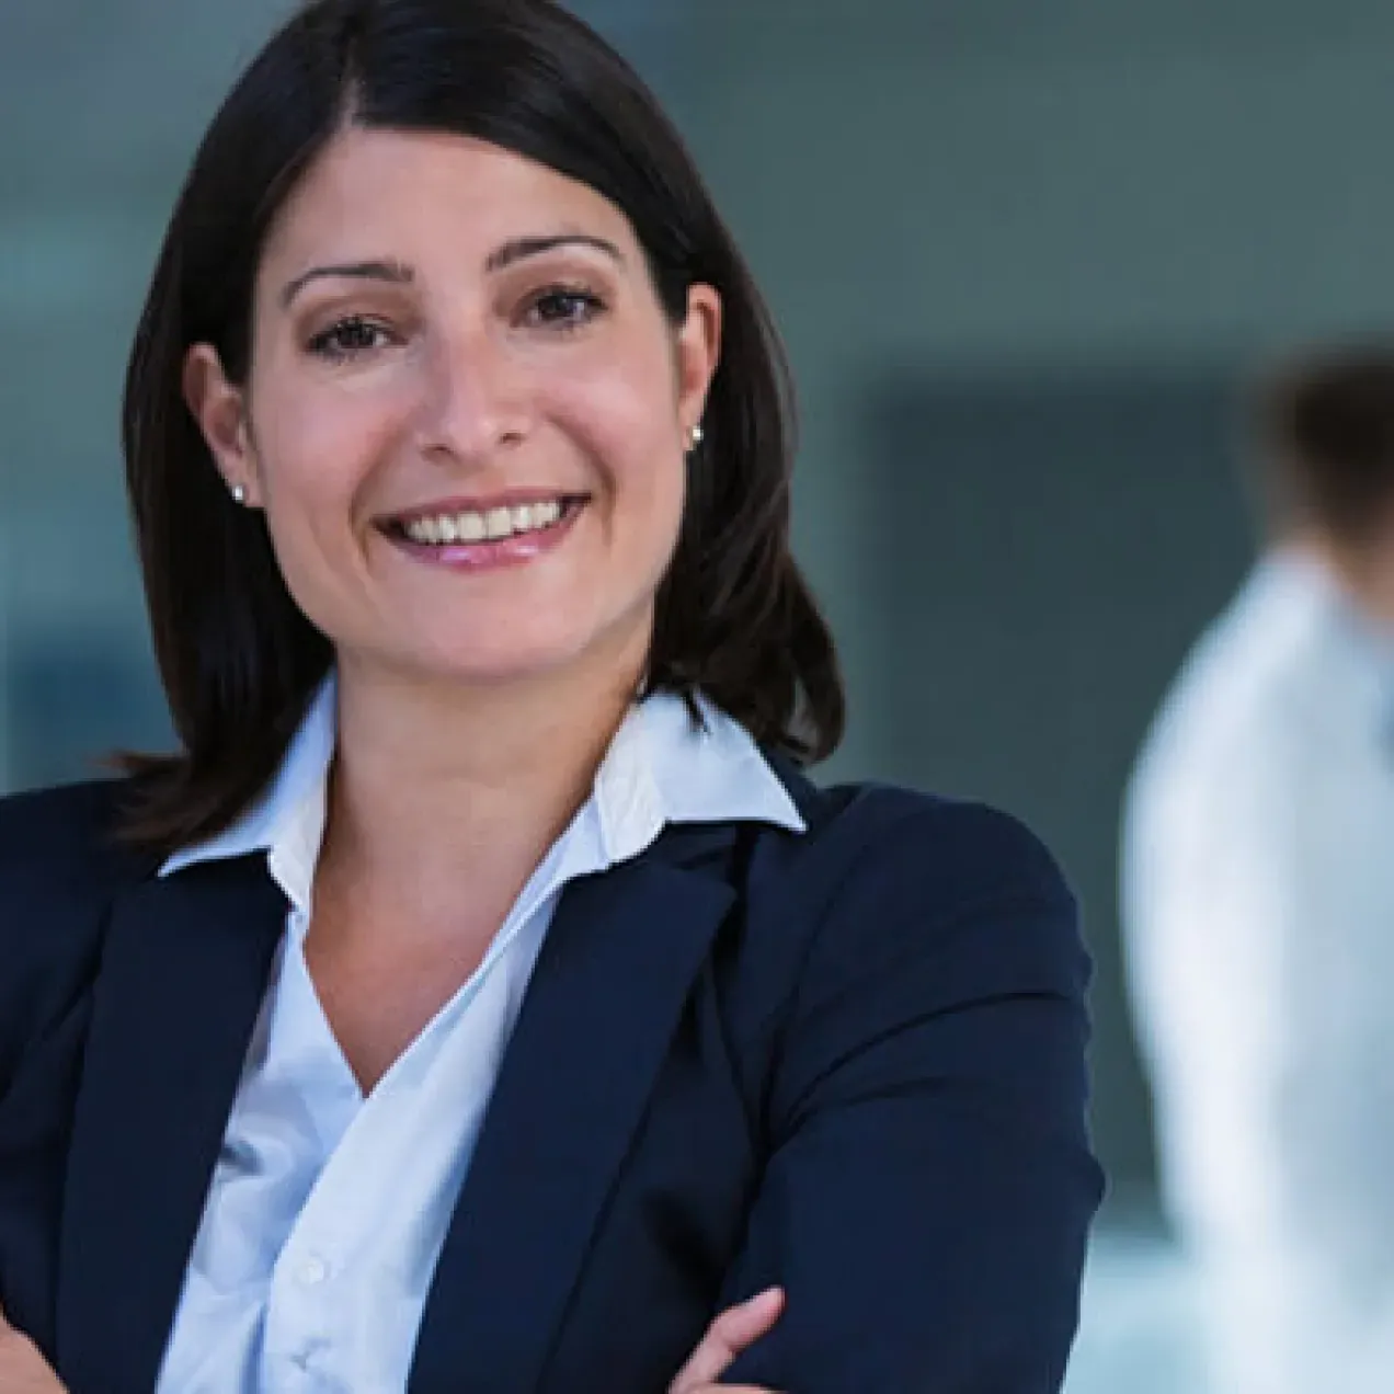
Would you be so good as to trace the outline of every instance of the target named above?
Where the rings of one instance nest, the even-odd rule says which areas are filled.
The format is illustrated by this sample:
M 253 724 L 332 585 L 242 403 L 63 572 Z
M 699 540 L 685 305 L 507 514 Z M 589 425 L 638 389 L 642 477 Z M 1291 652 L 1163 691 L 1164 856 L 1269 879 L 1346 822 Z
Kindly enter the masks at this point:
M 464 684 L 340 657 L 322 867 L 429 899 L 461 877 L 526 880 L 588 797 L 640 672 L 641 655 L 611 655 Z

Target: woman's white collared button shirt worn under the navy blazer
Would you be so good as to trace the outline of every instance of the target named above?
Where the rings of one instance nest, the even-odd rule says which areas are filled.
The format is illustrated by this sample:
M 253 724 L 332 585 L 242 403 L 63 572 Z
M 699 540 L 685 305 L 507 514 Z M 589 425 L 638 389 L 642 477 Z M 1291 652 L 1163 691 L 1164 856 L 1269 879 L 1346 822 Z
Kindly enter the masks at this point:
M 750 736 L 704 704 L 636 705 L 590 800 L 484 962 L 364 1098 L 305 967 L 336 739 L 332 683 L 268 796 L 160 870 L 265 849 L 290 910 L 156 1394 L 399 1394 L 503 1051 L 565 884 L 669 822 L 803 822 Z M 661 927 L 655 926 L 655 933 Z

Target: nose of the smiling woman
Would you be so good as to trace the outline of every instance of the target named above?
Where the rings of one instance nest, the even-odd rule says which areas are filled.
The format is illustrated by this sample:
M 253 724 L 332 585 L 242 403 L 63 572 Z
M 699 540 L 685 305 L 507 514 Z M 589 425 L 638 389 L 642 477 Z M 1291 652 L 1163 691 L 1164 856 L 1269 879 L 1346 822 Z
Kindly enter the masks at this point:
M 461 329 L 434 344 L 418 439 L 424 454 L 487 464 L 531 429 L 524 374 L 485 329 Z

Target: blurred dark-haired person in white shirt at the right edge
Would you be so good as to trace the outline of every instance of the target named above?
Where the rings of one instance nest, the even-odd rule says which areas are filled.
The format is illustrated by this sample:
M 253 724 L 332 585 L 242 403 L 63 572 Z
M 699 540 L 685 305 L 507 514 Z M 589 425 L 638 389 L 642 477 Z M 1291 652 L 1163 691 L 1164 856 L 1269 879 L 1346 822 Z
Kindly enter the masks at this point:
M 1394 1388 L 1394 347 L 1260 395 L 1264 553 L 1122 835 L 1164 1199 L 1217 1394 Z

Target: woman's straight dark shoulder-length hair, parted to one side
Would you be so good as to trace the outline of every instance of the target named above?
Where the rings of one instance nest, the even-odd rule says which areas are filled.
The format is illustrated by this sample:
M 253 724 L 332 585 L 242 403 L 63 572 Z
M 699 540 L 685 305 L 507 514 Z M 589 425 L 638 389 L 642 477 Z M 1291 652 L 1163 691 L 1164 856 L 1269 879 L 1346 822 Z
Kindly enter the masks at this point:
M 346 125 L 488 141 L 588 184 L 630 220 L 669 319 L 723 298 L 723 346 L 657 598 L 651 690 L 704 693 L 771 749 L 821 758 L 843 691 L 789 549 L 793 410 L 769 314 L 672 124 L 552 0 L 314 0 L 217 112 L 180 194 L 131 351 L 123 442 L 176 756 L 132 756 L 125 835 L 173 850 L 270 781 L 333 661 L 259 513 L 229 498 L 183 396 L 192 344 L 244 383 L 252 293 L 290 192 Z

